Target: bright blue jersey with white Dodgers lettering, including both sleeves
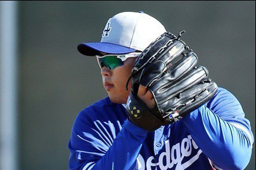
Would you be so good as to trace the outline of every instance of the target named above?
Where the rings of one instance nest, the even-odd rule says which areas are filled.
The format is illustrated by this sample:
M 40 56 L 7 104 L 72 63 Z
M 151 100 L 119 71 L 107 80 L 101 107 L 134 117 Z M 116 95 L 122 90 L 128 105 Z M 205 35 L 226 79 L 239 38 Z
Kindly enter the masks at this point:
M 127 119 L 109 97 L 82 110 L 71 132 L 70 169 L 243 169 L 254 137 L 239 101 L 224 88 L 154 132 Z

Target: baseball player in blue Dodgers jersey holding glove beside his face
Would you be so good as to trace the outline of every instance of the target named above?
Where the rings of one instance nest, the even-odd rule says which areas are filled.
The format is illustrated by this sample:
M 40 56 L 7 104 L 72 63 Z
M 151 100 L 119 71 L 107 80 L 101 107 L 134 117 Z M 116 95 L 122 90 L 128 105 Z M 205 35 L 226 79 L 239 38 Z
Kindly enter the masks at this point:
M 155 18 L 110 18 L 96 56 L 108 97 L 74 121 L 70 169 L 244 169 L 254 137 L 239 101 Z M 199 57 L 200 58 L 200 57 Z

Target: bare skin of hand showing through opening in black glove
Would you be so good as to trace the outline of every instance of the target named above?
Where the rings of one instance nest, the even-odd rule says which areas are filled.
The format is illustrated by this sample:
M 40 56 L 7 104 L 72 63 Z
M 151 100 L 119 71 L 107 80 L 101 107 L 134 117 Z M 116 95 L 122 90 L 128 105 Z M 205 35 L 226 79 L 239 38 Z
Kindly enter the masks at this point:
M 156 106 L 155 100 L 153 99 L 152 92 L 149 91 L 145 86 L 140 85 L 138 87 L 138 98 L 143 101 L 149 109 L 153 109 Z

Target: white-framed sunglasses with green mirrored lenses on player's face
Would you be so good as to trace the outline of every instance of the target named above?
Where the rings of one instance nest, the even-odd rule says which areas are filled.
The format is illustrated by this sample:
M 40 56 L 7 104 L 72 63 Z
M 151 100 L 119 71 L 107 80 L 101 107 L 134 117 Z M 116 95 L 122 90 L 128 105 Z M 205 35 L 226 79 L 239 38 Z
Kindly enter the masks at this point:
M 131 52 L 128 54 L 107 54 L 107 55 L 96 55 L 98 64 L 101 69 L 107 67 L 107 69 L 115 69 L 118 66 L 124 65 L 124 61 L 129 57 L 138 57 L 141 52 Z

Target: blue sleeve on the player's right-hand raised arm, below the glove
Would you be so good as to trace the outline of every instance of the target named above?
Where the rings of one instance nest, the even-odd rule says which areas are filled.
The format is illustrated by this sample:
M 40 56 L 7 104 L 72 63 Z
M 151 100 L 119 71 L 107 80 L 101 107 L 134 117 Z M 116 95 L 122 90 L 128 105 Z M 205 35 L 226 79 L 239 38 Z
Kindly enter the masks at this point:
M 221 169 L 244 169 L 251 159 L 254 137 L 242 106 L 219 88 L 207 104 L 182 119 L 204 154 Z

